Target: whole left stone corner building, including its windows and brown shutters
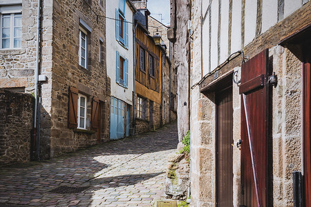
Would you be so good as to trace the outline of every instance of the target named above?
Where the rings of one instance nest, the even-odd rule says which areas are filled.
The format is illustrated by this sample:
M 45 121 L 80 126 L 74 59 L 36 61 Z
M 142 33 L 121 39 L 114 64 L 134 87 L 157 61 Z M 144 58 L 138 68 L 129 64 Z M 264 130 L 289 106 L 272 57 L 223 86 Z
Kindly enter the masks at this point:
M 11 0 L 0 10 L 0 87 L 37 95 L 32 158 L 109 140 L 105 2 Z

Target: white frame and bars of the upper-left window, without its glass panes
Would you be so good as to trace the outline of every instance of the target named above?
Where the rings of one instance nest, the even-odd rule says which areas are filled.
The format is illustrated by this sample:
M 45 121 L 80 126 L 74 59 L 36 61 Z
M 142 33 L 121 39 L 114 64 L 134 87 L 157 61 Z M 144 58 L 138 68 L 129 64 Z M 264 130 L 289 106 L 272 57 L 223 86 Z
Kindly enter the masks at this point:
M 8 48 L 3 48 L 3 37 L 2 37 L 2 30 L 3 30 L 3 16 L 8 15 L 10 16 L 10 36 L 8 38 L 4 38 L 4 39 L 9 39 L 9 47 Z M 21 23 L 21 26 L 15 26 L 15 16 L 19 15 L 19 17 L 21 18 L 22 21 L 22 12 L 21 12 L 21 6 L 15 6 L 15 7 L 1 7 L 0 6 L 0 50 L 16 50 L 16 49 L 21 49 L 21 39 L 22 39 L 22 27 L 23 24 Z M 8 28 L 8 27 L 6 27 Z M 20 28 L 21 30 L 21 36 L 20 37 L 15 37 L 15 28 Z M 14 45 L 14 41 L 15 39 L 19 39 L 20 41 L 20 47 L 15 47 Z

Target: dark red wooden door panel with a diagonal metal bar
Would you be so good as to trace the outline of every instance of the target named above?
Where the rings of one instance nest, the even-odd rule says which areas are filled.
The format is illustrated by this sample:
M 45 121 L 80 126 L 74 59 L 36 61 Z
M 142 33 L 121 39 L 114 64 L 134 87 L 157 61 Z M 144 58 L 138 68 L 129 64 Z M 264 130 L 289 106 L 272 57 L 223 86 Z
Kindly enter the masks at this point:
M 268 50 L 241 68 L 241 204 L 268 206 Z

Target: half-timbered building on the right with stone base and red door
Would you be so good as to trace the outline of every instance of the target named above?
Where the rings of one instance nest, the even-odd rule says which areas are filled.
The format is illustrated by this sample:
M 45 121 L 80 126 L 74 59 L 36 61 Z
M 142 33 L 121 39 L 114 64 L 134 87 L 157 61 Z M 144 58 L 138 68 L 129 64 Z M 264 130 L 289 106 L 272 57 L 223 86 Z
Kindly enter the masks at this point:
M 311 2 L 171 5 L 191 57 L 191 206 L 310 206 Z

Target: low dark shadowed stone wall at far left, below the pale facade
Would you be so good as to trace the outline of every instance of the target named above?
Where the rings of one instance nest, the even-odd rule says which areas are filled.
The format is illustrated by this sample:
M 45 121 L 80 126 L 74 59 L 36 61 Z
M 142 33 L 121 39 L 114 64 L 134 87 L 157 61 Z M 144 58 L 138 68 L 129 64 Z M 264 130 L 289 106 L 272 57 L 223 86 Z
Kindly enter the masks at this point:
M 30 161 L 34 106 L 32 95 L 0 89 L 0 165 Z

